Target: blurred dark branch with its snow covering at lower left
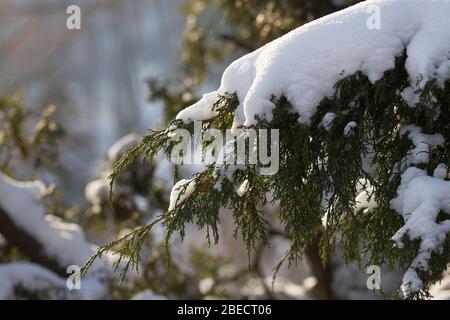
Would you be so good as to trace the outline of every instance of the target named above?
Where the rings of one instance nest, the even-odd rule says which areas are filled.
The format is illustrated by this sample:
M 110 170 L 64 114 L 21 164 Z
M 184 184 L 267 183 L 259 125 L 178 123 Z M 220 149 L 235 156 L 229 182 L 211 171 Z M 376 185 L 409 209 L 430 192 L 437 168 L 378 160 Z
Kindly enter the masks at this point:
M 10 278 L 11 283 L 20 282 L 20 270 L 29 271 L 22 274 L 23 281 L 44 273 L 50 283 L 59 283 L 63 279 L 59 276 L 67 276 L 69 266 L 81 267 L 95 253 L 96 247 L 85 240 L 78 225 L 45 215 L 44 209 L 36 202 L 44 192 L 45 186 L 40 182 L 17 182 L 3 175 L 0 177 L 0 233 L 40 265 L 17 269 L 14 277 Z M 110 263 L 107 259 L 93 265 L 83 280 L 80 297 L 99 298 L 109 294 L 108 279 L 112 277 Z M 43 267 L 48 270 L 42 271 Z M 10 273 L 11 268 L 3 266 L 1 270 Z

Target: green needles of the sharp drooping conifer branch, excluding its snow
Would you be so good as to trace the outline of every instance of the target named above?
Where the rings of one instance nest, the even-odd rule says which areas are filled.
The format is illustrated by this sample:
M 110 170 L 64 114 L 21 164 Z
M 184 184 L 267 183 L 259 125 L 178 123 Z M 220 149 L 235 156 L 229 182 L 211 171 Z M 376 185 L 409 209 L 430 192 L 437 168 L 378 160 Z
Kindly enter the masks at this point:
M 400 134 L 400 128 L 415 124 L 425 133 L 449 137 L 450 81 L 444 88 L 437 86 L 435 81 L 427 83 L 418 92 L 419 103 L 411 108 L 400 94 L 410 85 L 405 60 L 406 54 L 398 57 L 395 68 L 375 83 L 361 72 L 336 83 L 335 94 L 318 105 L 309 125 L 299 124 L 298 114 L 285 97 L 273 97 L 276 105 L 273 121 L 259 120 L 254 128 L 279 129 L 278 173 L 262 176 L 256 166 L 250 164 L 232 171 L 227 165 L 209 165 L 193 177 L 191 183 L 194 183 L 195 191 L 187 199 L 149 225 L 101 247 L 86 267 L 96 257 L 112 249 L 122 261 L 129 259 L 124 271 L 128 270 L 129 264 L 137 267 L 143 238 L 156 223 L 165 227 L 166 251 L 175 233 L 184 237 L 187 223 L 195 223 L 205 231 L 210 243 L 217 243 L 219 209 L 222 207 L 233 212 L 235 234 L 242 237 L 250 252 L 260 241 L 269 244 L 271 226 L 263 208 L 276 204 L 279 206 L 279 222 L 291 240 L 286 254 L 290 262 L 296 262 L 306 248 L 318 242 L 324 264 L 339 244 L 346 261 L 361 263 L 364 260 L 369 265 L 406 270 L 417 255 L 419 241 L 404 239 L 405 247 L 399 249 L 390 240 L 403 225 L 403 218 L 390 208 L 390 201 L 396 197 L 400 176 L 407 168 L 404 159 L 414 147 L 405 135 Z M 218 116 L 210 119 L 204 129 L 230 128 L 237 105 L 238 99 L 233 93 L 220 97 L 211 106 Z M 335 113 L 336 118 L 325 129 L 320 124 L 328 112 Z M 350 121 L 358 126 L 351 134 L 344 135 L 344 127 Z M 169 156 L 177 143 L 169 138 L 170 132 L 177 128 L 193 130 L 191 124 L 175 120 L 163 131 L 150 131 L 116 164 L 111 183 L 141 154 L 153 158 L 163 151 Z M 432 174 L 437 164 L 450 165 L 449 155 L 447 139 L 443 147 L 430 151 L 429 163 L 419 167 Z M 371 172 L 367 172 L 364 162 L 371 164 Z M 230 172 L 233 172 L 231 177 Z M 236 188 L 244 180 L 248 180 L 249 190 L 238 196 Z M 371 197 L 378 207 L 355 212 L 360 181 L 366 181 L 362 186 L 366 190 L 370 182 L 373 188 Z M 218 184 L 220 191 L 216 187 Z M 180 194 L 186 188 L 185 185 Z M 445 218 L 448 215 L 442 213 L 442 219 Z M 411 298 L 428 296 L 429 286 L 440 279 L 450 261 L 449 245 L 450 240 L 447 239 L 442 253 L 433 254 L 430 272 L 420 273 L 424 288 Z

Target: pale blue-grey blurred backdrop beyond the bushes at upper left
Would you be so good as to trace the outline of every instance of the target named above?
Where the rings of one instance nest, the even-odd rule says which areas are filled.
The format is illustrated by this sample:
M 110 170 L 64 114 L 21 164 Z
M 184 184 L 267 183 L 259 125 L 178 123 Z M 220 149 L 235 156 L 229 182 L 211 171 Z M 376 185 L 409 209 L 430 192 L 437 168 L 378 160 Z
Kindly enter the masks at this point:
M 81 30 L 66 8 L 81 7 Z M 66 135 L 58 184 L 74 201 L 121 136 L 161 122 L 146 79 L 176 73 L 185 18 L 178 0 L 2 0 L 0 95 L 54 104 Z

